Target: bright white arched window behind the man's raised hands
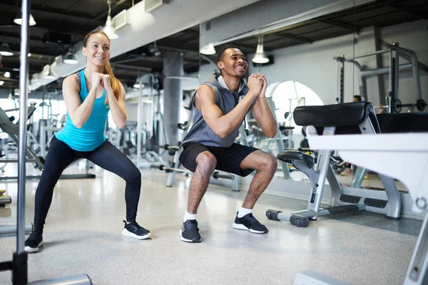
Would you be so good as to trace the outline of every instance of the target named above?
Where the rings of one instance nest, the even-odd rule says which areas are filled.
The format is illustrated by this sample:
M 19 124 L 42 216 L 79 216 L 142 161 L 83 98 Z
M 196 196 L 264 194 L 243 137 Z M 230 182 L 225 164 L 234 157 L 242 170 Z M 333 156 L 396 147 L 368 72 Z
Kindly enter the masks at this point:
M 292 115 L 285 120 L 285 113 L 292 113 L 297 106 L 324 105 L 320 97 L 307 86 L 296 81 L 283 81 L 272 90 L 272 100 L 275 102 L 275 115 L 280 125 L 297 127 Z

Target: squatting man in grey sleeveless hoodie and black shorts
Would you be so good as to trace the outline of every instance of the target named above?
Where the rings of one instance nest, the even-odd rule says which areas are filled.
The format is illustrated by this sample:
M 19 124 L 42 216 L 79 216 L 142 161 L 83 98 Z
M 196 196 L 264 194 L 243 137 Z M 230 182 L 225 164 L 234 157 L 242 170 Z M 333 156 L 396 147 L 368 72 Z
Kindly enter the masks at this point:
M 236 47 L 219 51 L 217 66 L 220 73 L 212 73 L 193 95 L 193 126 L 179 150 L 180 162 L 195 173 L 190 180 L 188 208 L 180 230 L 183 242 L 201 240 L 196 212 L 215 169 L 243 177 L 257 170 L 233 227 L 267 233 L 267 228 L 253 217 L 253 207 L 272 180 L 277 160 L 254 147 L 234 143 L 250 108 L 263 133 L 275 137 L 277 123 L 265 97 L 267 82 L 263 74 L 257 73 L 245 84 L 248 63 Z

